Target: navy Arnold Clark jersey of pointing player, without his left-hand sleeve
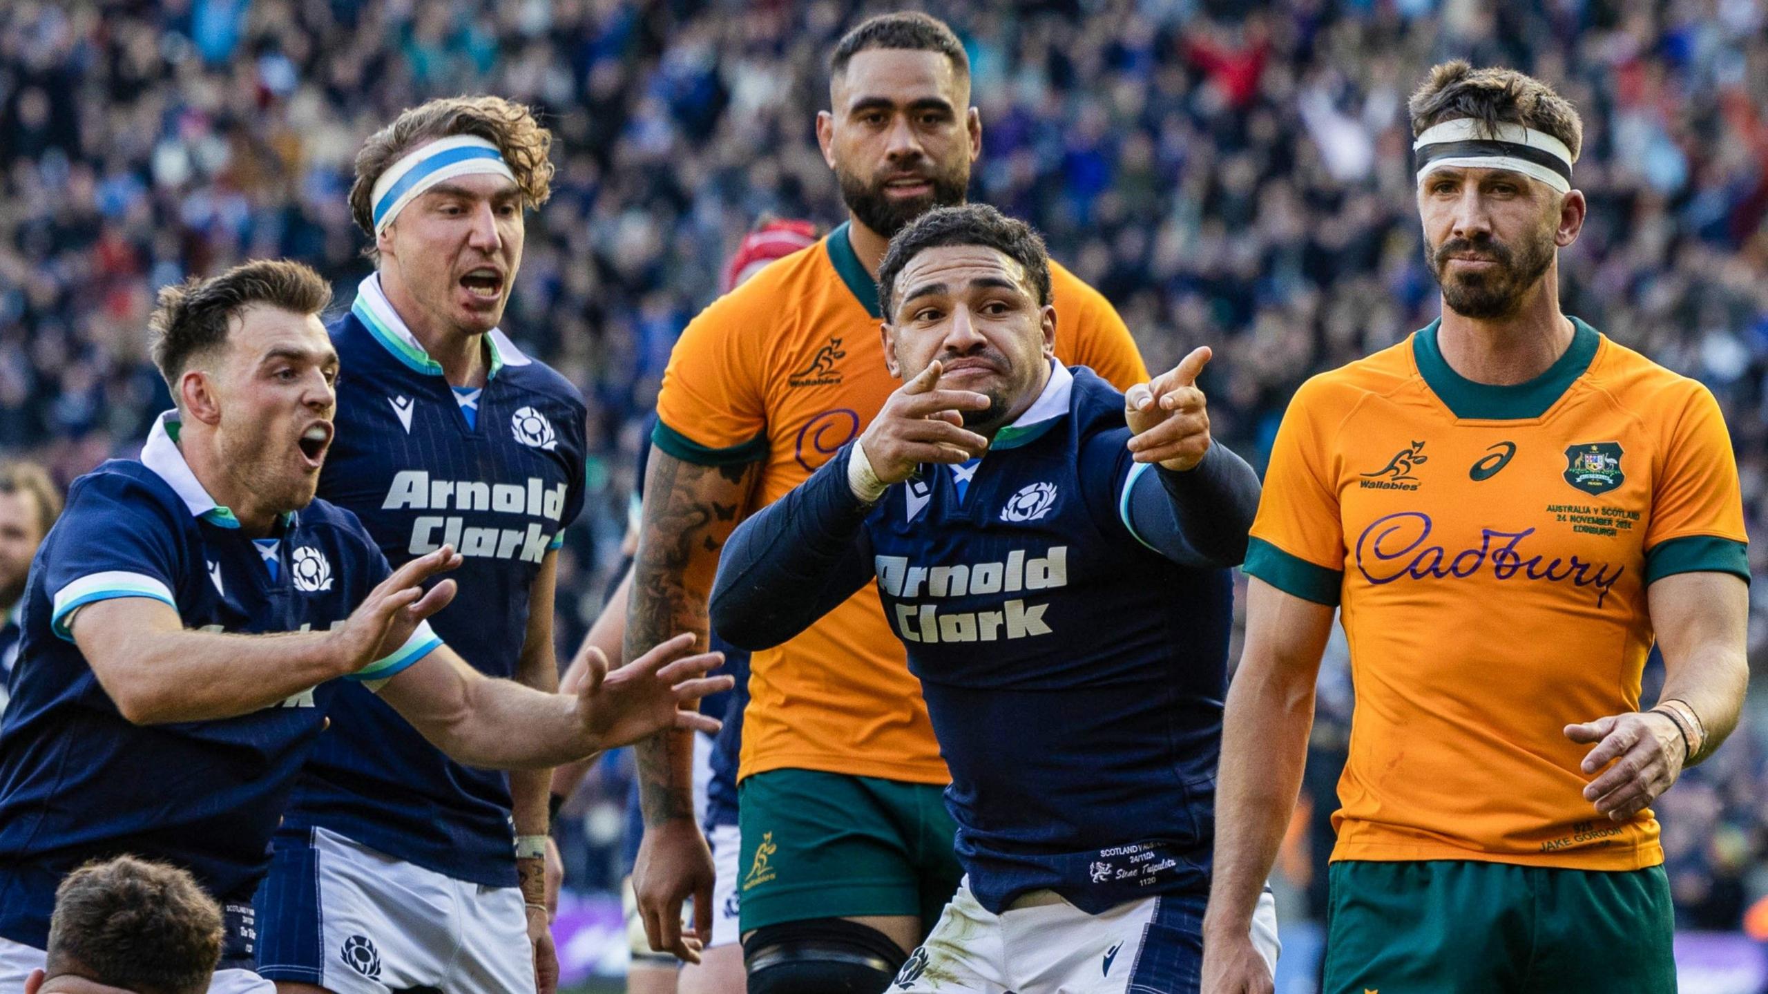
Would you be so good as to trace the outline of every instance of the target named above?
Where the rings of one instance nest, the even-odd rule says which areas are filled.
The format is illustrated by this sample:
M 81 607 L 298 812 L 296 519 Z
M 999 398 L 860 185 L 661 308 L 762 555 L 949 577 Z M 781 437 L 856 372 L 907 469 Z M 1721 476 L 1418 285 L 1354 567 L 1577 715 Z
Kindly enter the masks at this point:
M 1232 580 L 1128 529 L 1128 437 L 1123 394 L 1055 366 L 962 497 L 964 472 L 928 472 L 866 518 L 992 911 L 1208 890 Z

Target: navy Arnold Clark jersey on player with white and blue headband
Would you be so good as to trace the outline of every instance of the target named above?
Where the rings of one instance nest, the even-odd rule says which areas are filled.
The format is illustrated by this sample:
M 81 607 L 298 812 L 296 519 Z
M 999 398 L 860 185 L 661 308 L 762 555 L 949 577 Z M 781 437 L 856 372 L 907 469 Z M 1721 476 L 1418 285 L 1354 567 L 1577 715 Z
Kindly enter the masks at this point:
M 378 276 L 331 336 L 338 433 L 320 495 L 355 511 L 394 568 L 453 545 L 460 593 L 431 624 L 486 676 L 514 676 L 529 591 L 583 508 L 582 396 L 493 331 L 490 377 L 465 409 Z M 285 831 L 311 826 L 454 879 L 516 884 L 507 775 L 454 762 L 362 688 L 339 695 L 295 791 Z

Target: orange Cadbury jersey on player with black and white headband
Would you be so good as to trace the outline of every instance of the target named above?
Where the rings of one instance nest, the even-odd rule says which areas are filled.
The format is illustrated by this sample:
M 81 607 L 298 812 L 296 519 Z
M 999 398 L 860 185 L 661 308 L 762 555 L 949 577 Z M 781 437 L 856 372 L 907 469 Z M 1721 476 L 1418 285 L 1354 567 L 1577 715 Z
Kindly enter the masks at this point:
M 1245 570 L 1340 607 L 1333 860 L 1664 861 L 1650 810 L 1584 799 L 1591 746 L 1561 729 L 1639 707 L 1648 584 L 1749 582 L 1743 502 L 1706 387 L 1574 324 L 1528 384 L 1459 377 L 1432 324 L 1284 416 Z

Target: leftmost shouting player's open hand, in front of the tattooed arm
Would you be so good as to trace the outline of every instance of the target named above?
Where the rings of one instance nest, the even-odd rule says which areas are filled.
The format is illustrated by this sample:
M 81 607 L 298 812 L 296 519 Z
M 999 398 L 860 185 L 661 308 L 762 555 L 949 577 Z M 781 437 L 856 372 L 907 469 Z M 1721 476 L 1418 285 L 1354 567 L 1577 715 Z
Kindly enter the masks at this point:
M 601 649 L 589 649 L 576 713 L 601 748 L 631 745 L 665 729 L 718 730 L 718 718 L 700 715 L 700 699 L 730 690 L 735 681 L 705 676 L 725 661 L 725 654 L 690 654 L 693 642 L 684 631 L 613 672 Z

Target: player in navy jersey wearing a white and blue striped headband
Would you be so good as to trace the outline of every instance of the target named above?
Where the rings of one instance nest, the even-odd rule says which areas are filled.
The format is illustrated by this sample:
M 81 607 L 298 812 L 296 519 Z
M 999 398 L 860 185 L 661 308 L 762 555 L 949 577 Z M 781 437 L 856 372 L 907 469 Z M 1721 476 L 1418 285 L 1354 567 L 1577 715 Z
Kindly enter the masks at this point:
M 460 596 L 437 635 L 486 676 L 548 692 L 583 400 L 497 325 L 523 212 L 550 196 L 550 143 L 529 108 L 488 96 L 430 101 L 364 141 L 350 207 L 375 272 L 331 325 L 338 444 L 318 490 L 394 566 L 453 545 Z M 552 994 L 548 784 L 456 762 L 347 688 L 258 895 L 262 973 L 285 992 Z

